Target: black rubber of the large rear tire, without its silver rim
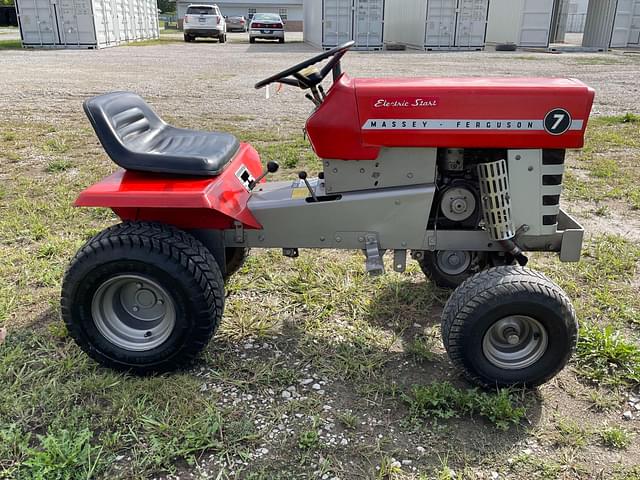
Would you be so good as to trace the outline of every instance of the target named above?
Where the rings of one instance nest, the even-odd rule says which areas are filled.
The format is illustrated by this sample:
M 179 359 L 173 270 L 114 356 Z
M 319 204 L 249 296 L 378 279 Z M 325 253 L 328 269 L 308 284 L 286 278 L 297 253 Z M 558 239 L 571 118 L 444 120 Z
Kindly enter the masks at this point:
M 96 292 L 122 275 L 155 282 L 175 307 L 168 338 L 149 350 L 122 348 L 94 318 Z M 188 233 L 157 223 L 125 222 L 99 233 L 78 251 L 62 285 L 62 318 L 80 348 L 104 366 L 140 374 L 174 370 L 195 358 L 223 310 L 224 281 L 209 250 Z

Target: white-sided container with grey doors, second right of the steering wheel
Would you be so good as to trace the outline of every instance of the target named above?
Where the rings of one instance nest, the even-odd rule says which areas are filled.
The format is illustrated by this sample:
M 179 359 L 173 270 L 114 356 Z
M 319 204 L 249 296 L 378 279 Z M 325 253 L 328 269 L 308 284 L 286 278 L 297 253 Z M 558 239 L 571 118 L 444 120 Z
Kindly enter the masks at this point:
M 482 50 L 489 0 L 387 0 L 386 43 L 420 50 Z

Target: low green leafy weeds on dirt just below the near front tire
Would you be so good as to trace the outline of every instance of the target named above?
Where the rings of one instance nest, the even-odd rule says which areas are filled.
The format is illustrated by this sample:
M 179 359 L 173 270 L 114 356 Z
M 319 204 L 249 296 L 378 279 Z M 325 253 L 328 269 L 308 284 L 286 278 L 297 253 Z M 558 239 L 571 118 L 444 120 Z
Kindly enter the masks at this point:
M 446 381 L 414 386 L 402 398 L 413 417 L 451 418 L 477 414 L 500 430 L 517 425 L 526 413 L 524 407 L 514 405 L 513 395 L 507 389 L 495 394 L 477 389 L 461 390 Z

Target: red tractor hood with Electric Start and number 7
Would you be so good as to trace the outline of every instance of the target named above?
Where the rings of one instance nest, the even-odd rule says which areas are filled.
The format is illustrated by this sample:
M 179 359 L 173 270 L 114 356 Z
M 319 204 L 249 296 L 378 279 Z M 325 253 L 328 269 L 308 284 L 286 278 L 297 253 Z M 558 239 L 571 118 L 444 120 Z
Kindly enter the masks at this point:
M 593 98 L 575 79 L 342 75 L 307 132 L 319 157 L 343 160 L 381 147 L 581 148 Z

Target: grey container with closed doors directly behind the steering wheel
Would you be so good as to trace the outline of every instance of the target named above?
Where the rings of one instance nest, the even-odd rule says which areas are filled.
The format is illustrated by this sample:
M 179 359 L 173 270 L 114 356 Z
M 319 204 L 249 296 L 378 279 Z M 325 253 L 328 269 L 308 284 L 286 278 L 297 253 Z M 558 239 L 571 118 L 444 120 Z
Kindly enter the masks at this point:
M 355 40 L 355 49 L 382 50 L 384 16 L 385 0 L 304 0 L 303 38 L 324 49 Z

